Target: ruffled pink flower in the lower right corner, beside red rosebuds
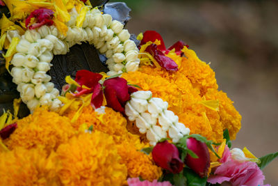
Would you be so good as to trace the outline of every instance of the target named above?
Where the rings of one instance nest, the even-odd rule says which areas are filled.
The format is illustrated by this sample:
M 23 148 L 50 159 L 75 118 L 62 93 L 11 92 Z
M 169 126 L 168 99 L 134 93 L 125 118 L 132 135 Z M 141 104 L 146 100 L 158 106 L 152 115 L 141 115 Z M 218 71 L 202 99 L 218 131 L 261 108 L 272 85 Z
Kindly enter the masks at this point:
M 212 176 L 209 176 L 208 183 L 228 181 L 231 185 L 263 185 L 265 177 L 259 166 L 255 162 L 238 162 L 231 159 L 231 153 L 227 146 L 220 162 L 222 164 L 215 169 Z

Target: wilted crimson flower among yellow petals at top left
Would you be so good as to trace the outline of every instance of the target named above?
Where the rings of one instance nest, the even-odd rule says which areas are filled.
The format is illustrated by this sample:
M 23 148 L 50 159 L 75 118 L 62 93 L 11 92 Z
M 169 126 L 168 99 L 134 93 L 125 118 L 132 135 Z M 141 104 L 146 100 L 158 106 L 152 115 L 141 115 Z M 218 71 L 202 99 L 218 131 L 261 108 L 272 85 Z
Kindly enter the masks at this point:
M 54 15 L 54 11 L 47 8 L 39 8 L 37 10 L 33 10 L 31 15 L 29 15 L 25 21 L 25 26 L 28 29 L 39 28 L 42 25 L 51 26 L 54 24 L 53 20 L 50 20 Z M 31 22 L 31 18 L 35 17 L 36 23 L 29 25 Z

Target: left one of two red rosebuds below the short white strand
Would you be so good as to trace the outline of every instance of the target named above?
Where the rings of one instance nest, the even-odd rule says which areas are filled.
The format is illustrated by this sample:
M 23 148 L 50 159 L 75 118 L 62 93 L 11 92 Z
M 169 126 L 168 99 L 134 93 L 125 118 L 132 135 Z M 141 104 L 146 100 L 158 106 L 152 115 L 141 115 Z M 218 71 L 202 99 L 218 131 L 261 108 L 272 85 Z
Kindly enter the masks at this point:
M 183 170 L 183 162 L 179 159 L 179 150 L 168 141 L 156 144 L 152 150 L 154 162 L 172 173 L 179 173 Z

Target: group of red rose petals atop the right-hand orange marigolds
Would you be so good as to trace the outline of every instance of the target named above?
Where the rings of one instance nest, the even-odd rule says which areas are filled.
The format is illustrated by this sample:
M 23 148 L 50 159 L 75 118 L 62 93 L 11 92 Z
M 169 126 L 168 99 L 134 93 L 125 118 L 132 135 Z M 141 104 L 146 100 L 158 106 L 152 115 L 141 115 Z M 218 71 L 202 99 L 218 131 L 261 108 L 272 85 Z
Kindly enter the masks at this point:
M 161 67 L 165 68 L 166 70 L 172 70 L 177 71 L 178 65 L 175 63 L 172 59 L 165 56 L 165 54 L 168 54 L 170 50 L 175 49 L 175 52 L 177 55 L 182 56 L 183 53 L 181 52 L 181 49 L 183 49 L 184 46 L 188 47 L 184 42 L 178 41 L 168 49 L 166 49 L 163 38 L 159 33 L 156 31 L 145 31 L 143 34 L 143 38 L 140 42 L 140 45 L 144 45 L 148 41 L 156 41 L 159 40 L 161 42 L 161 45 L 152 44 L 147 47 L 146 52 L 149 52 L 152 56 L 154 56 L 154 59 L 157 61 Z

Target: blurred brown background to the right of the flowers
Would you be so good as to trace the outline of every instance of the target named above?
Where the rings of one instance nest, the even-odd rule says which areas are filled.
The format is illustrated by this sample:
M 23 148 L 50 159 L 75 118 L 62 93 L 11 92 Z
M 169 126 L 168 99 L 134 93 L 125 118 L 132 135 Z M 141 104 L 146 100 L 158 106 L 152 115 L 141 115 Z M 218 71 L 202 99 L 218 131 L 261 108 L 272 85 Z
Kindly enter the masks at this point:
M 243 116 L 234 148 L 278 151 L 278 1 L 126 0 L 131 33 L 156 30 L 165 45 L 186 42 L 211 62 L 219 89 Z M 263 169 L 278 185 L 278 158 Z

